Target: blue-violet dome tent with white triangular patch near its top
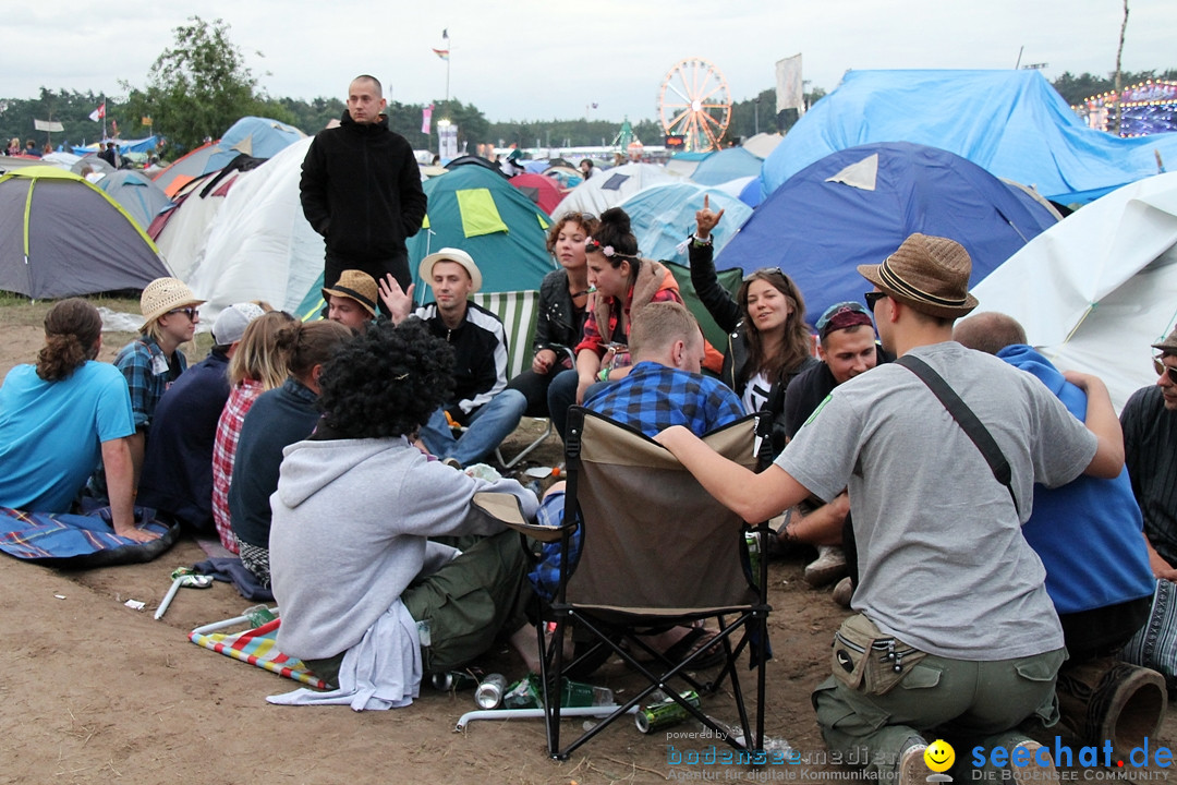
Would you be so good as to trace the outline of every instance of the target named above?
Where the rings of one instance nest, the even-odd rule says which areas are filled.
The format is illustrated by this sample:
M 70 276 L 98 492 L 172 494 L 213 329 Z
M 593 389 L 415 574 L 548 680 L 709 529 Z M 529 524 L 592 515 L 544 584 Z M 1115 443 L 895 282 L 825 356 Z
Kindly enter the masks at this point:
M 1056 221 L 1033 197 L 959 155 L 907 142 L 863 145 L 791 177 L 716 265 L 780 267 L 800 287 L 812 324 L 834 302 L 862 301 L 871 285 L 857 266 L 879 264 L 912 232 L 967 248 L 975 286 Z

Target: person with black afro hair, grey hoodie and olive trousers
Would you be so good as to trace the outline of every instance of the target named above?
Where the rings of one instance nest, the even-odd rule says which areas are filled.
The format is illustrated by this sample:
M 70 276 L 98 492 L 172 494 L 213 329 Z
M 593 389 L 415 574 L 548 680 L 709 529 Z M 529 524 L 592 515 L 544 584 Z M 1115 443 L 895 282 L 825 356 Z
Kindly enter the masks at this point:
M 286 448 L 271 499 L 270 565 L 278 645 L 340 688 L 274 703 L 407 706 L 425 673 L 464 665 L 501 630 L 534 646 L 519 537 L 471 507 L 481 491 L 511 493 L 532 518 L 534 494 L 408 441 L 452 393 L 452 367 L 445 342 L 407 321 L 370 327 L 324 368 L 324 419 Z M 430 540 L 464 534 L 484 539 L 461 553 Z

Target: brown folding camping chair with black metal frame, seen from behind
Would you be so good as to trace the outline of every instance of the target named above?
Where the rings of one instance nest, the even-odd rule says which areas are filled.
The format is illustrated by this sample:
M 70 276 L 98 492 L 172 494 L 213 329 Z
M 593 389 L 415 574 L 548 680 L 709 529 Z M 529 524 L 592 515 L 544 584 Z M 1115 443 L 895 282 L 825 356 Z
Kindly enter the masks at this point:
M 753 467 L 753 418 L 745 418 L 707 434 L 705 441 L 719 453 Z M 699 696 L 714 692 L 730 679 L 739 712 L 743 736 L 703 713 L 679 694 L 677 686 L 666 688 L 670 698 L 711 729 L 717 738 L 737 750 L 758 750 L 764 739 L 764 666 L 767 652 L 767 560 L 758 559 L 750 570 L 746 533 L 764 553 L 766 525 L 749 528 L 739 517 L 716 501 L 664 447 L 645 435 L 609 418 L 573 406 L 568 411 L 566 439 L 565 523 L 559 528 L 523 524 L 516 505 L 516 520 L 498 501 L 498 510 L 476 498 L 484 510 L 537 539 L 560 540 L 563 559 L 556 598 L 541 607 L 538 638 L 544 657 L 540 678 L 548 753 L 561 760 L 609 724 L 625 716 L 667 683 L 685 681 Z M 479 494 L 499 497 L 499 494 Z M 511 498 L 507 497 L 510 500 Z M 579 564 L 568 564 L 572 532 L 577 528 L 577 511 L 583 520 Z M 757 573 L 756 580 L 752 579 Z M 670 661 L 633 633 L 643 628 L 663 630 L 717 619 L 718 645 L 725 658 L 718 676 L 701 683 L 687 672 L 693 660 L 704 654 L 700 647 L 680 661 Z M 554 634 L 545 640 L 547 621 L 556 623 Z M 572 661 L 563 657 L 564 637 L 570 624 L 579 633 L 593 638 L 593 645 L 579 648 Z M 738 636 L 737 640 L 737 634 Z M 733 643 L 734 641 L 734 643 Z M 629 644 L 626 648 L 623 643 Z M 568 746 L 560 747 L 561 678 L 599 657 L 599 647 L 619 654 L 645 677 L 646 686 L 609 717 L 586 731 Z M 752 733 L 740 687 L 737 660 L 749 650 L 751 666 L 757 668 L 756 732 Z M 644 651 L 653 663 L 639 663 L 633 653 Z M 647 701 L 649 703 L 649 701 Z

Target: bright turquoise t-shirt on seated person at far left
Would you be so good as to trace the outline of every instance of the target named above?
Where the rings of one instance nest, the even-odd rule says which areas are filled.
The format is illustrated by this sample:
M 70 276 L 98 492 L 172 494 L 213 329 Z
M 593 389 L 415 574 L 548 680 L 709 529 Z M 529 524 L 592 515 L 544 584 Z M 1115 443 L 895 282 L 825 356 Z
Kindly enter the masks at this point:
M 18 365 L 0 387 L 0 506 L 69 512 L 102 443 L 135 432 L 119 370 L 87 361 L 61 381 Z

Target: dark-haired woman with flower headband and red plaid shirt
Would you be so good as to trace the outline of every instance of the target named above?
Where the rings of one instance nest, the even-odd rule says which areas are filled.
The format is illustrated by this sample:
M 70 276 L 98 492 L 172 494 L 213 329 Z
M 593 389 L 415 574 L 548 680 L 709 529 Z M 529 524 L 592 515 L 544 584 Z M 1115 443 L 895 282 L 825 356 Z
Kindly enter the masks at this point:
M 588 266 L 588 318 L 584 335 L 576 346 L 577 367 L 561 372 L 547 391 L 552 423 L 564 438 L 568 407 L 591 398 L 588 388 L 598 382 L 617 381 L 630 372 L 630 322 L 650 302 L 683 302 L 678 281 L 666 267 L 638 255 L 638 239 L 630 228 L 630 217 L 620 207 L 601 213 L 600 224 L 585 241 Z M 719 354 L 710 350 L 705 362 L 719 367 Z M 713 367 L 712 367 L 713 366 Z

